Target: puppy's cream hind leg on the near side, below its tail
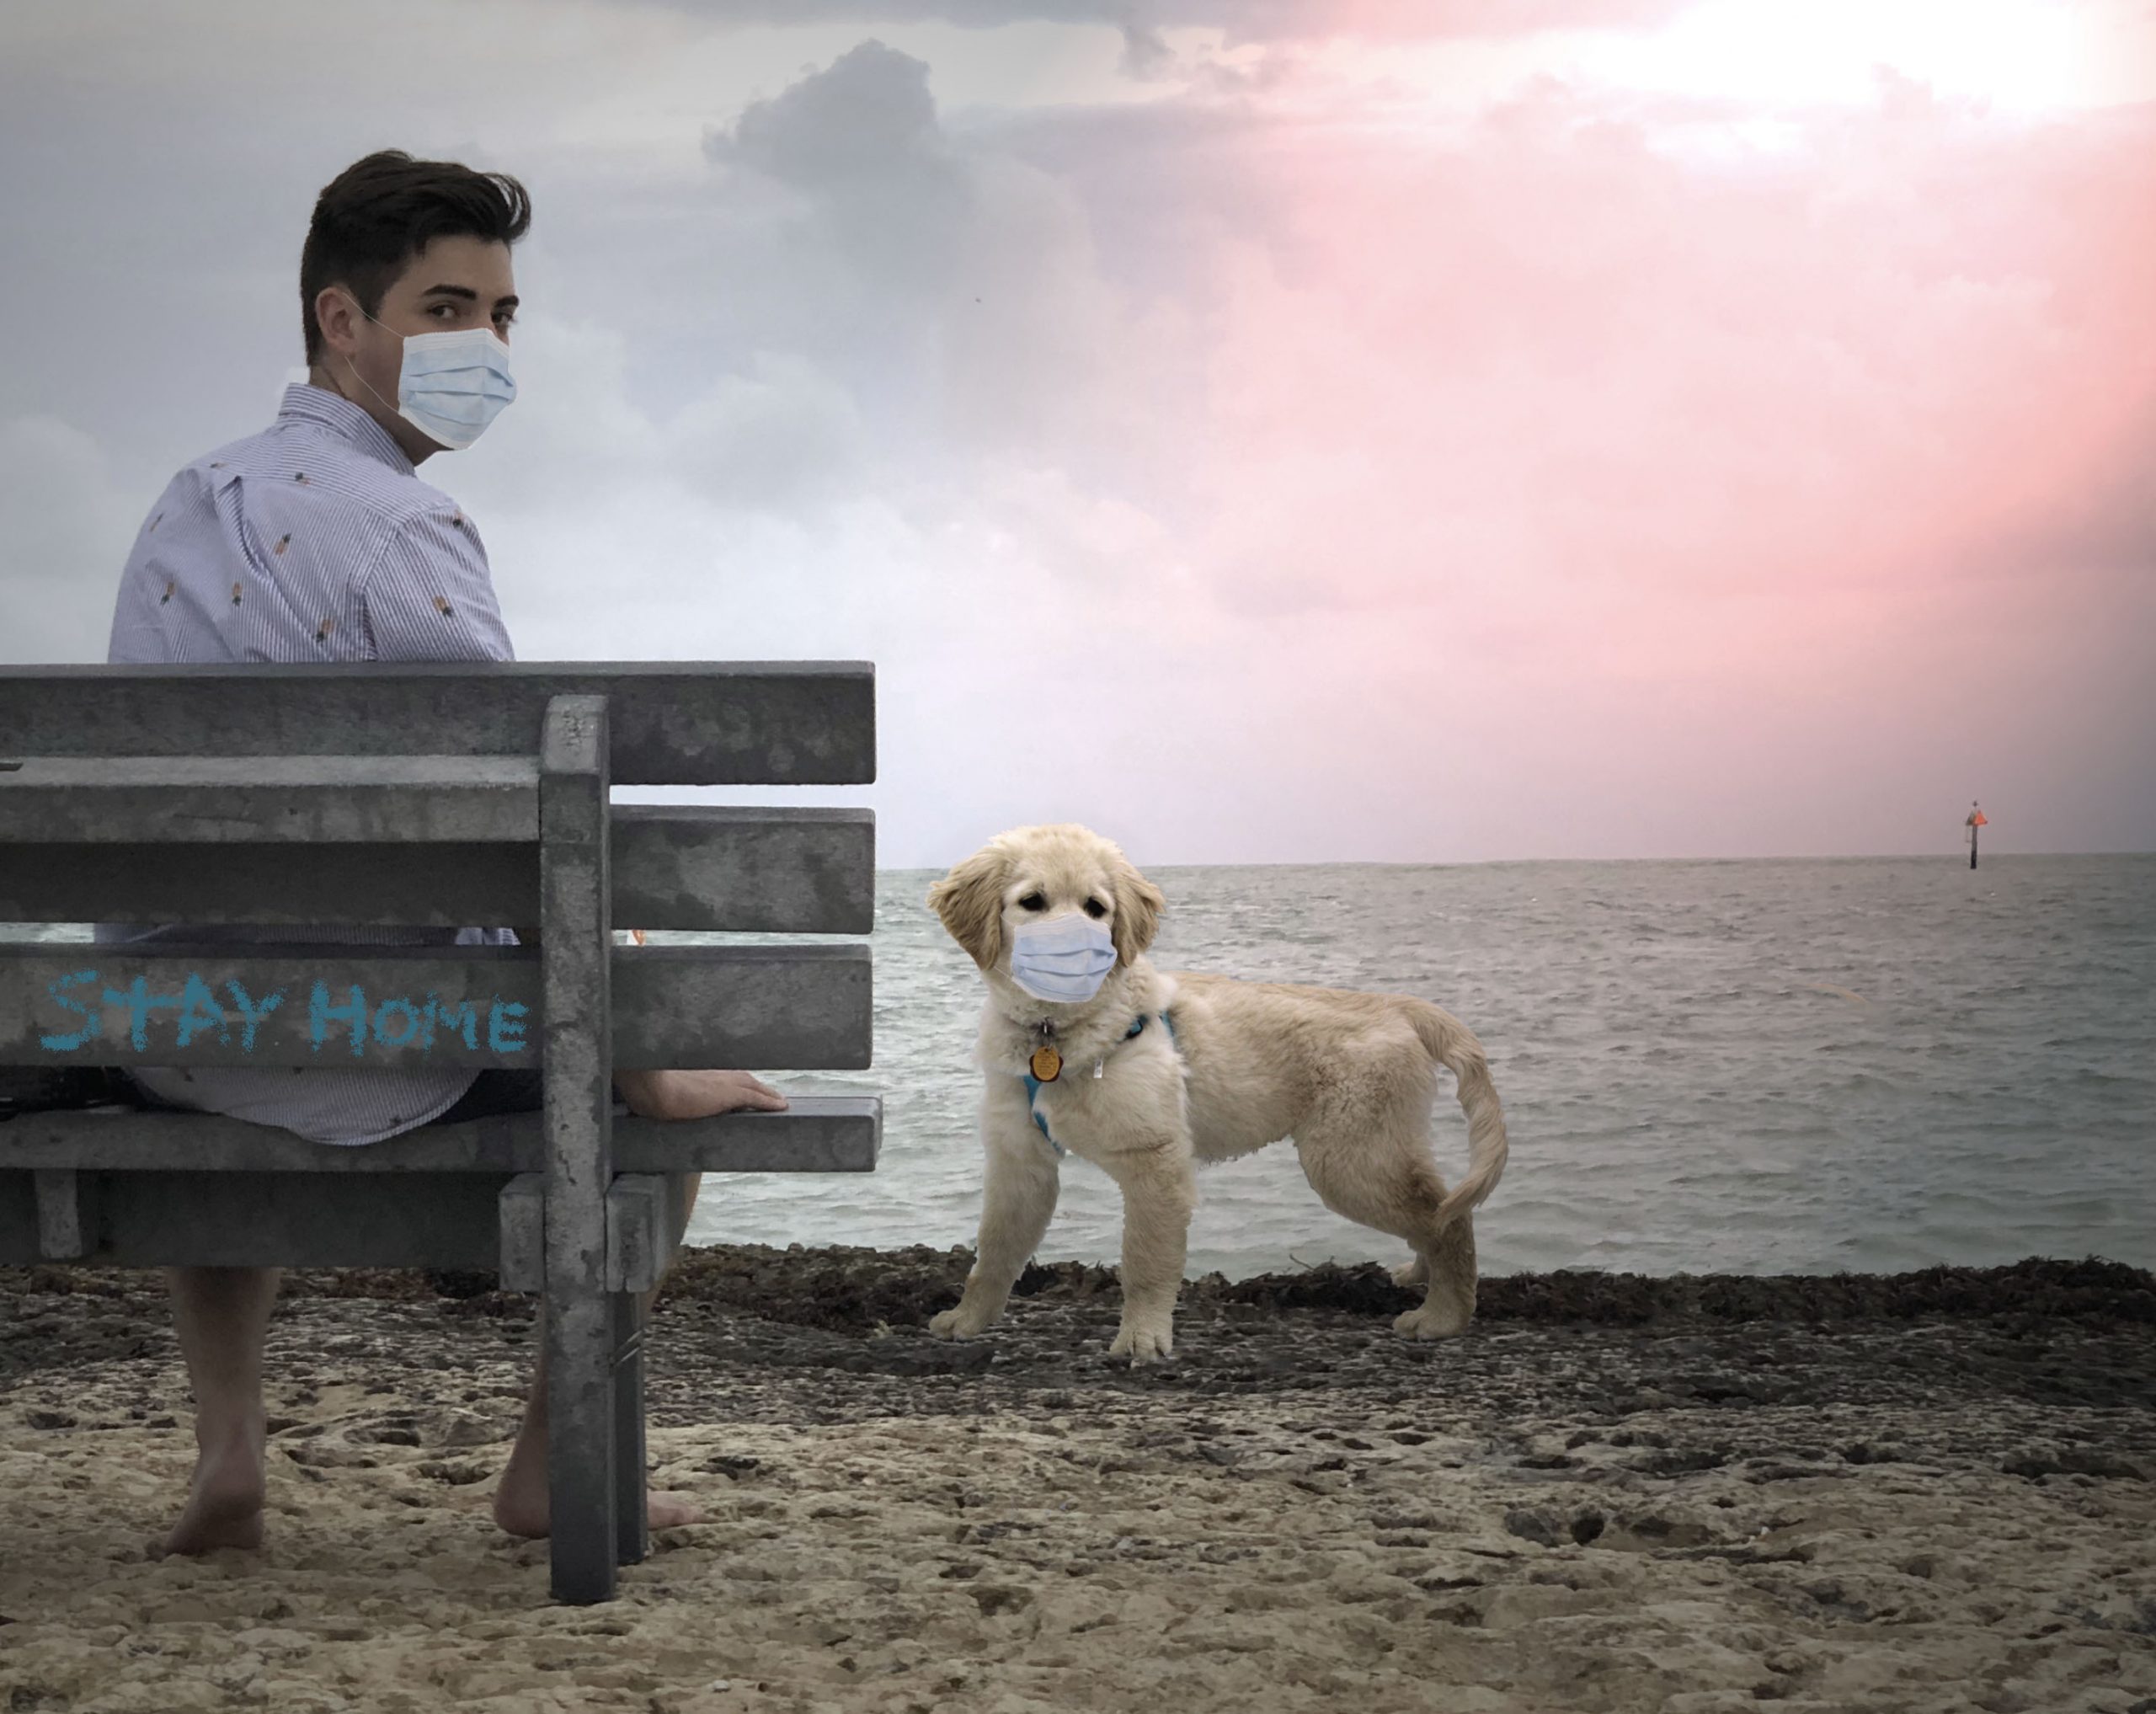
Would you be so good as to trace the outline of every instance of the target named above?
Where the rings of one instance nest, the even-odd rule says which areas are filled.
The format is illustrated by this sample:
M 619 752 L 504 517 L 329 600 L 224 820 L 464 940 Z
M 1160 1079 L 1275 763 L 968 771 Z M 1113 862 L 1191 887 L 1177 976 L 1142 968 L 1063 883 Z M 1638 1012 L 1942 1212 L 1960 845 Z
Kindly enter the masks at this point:
M 1475 1315 L 1475 1225 L 1470 1214 L 1438 1218 L 1445 1179 L 1429 1160 L 1429 1141 L 1416 1117 L 1384 1119 L 1332 1115 L 1307 1123 L 1296 1136 L 1302 1175 L 1317 1199 L 1358 1225 L 1406 1238 L 1414 1261 L 1393 1278 L 1427 1287 L 1419 1309 L 1393 1322 L 1410 1339 L 1451 1339 Z

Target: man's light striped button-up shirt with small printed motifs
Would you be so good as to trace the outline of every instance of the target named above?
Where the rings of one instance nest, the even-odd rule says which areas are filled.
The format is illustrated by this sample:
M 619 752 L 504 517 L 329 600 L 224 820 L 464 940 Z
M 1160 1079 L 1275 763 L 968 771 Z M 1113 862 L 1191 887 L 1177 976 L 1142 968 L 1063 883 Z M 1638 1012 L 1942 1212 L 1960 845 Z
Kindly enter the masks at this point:
M 121 573 L 112 662 L 513 660 L 487 552 L 358 405 L 285 388 L 276 423 L 190 464 L 157 498 Z M 304 860 L 304 854 L 295 854 Z M 505 944 L 507 929 L 99 925 L 99 940 Z M 375 1143 L 448 1110 L 470 1069 L 129 1067 L 162 1100 Z

